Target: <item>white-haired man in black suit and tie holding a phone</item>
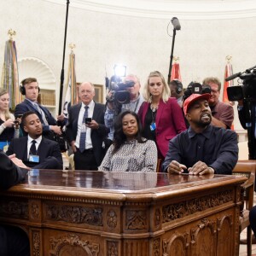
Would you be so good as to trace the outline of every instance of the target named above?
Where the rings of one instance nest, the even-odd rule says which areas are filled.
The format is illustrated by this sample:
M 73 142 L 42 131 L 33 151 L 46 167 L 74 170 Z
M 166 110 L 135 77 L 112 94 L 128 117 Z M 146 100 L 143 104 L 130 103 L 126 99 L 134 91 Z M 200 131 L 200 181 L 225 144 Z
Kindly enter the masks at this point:
M 94 85 L 84 82 L 79 86 L 81 103 L 68 112 L 67 141 L 74 153 L 76 170 L 97 170 L 105 154 L 103 140 L 108 134 L 104 125 L 104 105 L 93 101 Z

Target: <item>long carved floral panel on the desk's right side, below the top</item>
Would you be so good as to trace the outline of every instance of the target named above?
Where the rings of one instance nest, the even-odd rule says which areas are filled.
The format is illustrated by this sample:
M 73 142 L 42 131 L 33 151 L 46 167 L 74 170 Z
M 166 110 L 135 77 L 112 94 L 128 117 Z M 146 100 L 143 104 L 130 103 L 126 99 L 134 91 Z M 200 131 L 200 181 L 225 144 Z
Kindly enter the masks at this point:
M 162 223 L 177 218 L 184 218 L 195 212 L 202 212 L 208 208 L 218 207 L 226 202 L 234 201 L 232 190 L 221 191 L 213 195 L 205 195 L 191 201 L 182 201 L 162 208 Z

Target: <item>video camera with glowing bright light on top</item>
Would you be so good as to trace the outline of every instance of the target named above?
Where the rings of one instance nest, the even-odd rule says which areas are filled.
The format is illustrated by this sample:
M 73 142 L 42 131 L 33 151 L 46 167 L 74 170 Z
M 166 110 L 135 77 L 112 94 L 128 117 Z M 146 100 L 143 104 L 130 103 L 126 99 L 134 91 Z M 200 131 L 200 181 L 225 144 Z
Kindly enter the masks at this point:
M 108 83 L 108 84 L 107 84 Z M 133 81 L 121 82 L 121 79 L 117 76 L 113 76 L 109 82 L 106 82 L 106 87 L 111 91 L 111 96 L 107 96 L 107 102 L 114 102 L 117 104 L 127 104 L 130 102 L 130 93 L 128 88 L 134 86 Z

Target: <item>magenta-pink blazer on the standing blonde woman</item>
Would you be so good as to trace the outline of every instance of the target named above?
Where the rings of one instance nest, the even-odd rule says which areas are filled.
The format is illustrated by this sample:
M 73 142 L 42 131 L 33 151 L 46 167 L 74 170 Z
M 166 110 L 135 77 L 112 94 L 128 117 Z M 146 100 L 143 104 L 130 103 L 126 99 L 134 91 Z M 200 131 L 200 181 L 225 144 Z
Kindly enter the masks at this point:
M 143 127 L 145 125 L 145 116 L 149 105 L 150 103 L 143 102 L 138 112 Z M 177 104 L 176 98 L 171 97 L 166 103 L 160 100 L 155 117 L 155 125 L 156 145 L 160 150 L 160 154 L 165 158 L 170 139 L 175 137 L 178 133 L 187 130 L 182 109 Z

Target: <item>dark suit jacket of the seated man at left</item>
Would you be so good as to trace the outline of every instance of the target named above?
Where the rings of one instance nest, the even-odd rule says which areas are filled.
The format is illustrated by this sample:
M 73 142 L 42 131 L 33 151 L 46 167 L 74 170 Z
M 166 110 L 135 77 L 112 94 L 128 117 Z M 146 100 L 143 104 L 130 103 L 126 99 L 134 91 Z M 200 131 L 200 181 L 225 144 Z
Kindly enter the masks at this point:
M 26 166 L 34 167 L 38 165 L 37 163 L 27 161 L 27 136 L 13 139 L 9 144 L 6 154 L 16 154 L 16 157 L 22 160 Z M 54 157 L 59 163 L 59 166 L 55 169 L 63 169 L 61 149 L 58 143 L 42 137 L 42 141 L 38 146 L 38 156 L 40 163 L 49 157 Z

